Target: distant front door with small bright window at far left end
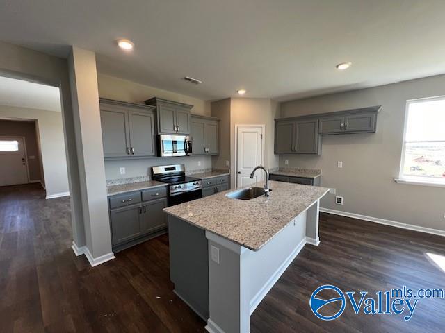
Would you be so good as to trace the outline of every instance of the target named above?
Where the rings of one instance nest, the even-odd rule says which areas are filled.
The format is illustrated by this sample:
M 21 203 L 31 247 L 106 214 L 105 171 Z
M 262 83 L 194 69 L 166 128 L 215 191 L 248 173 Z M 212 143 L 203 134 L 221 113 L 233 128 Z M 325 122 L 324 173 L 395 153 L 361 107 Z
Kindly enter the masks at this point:
M 25 151 L 21 137 L 0 137 L 0 186 L 28 182 Z

